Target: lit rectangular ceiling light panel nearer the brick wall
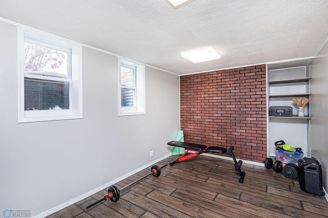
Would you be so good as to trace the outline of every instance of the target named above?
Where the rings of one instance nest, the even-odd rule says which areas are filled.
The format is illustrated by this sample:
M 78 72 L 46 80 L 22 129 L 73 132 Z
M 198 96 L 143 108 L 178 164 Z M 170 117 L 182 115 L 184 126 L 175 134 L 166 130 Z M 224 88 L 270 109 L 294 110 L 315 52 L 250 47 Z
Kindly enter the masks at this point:
M 220 59 L 221 55 L 213 49 L 213 47 L 204 47 L 203 49 L 197 49 L 189 52 L 181 53 L 183 58 L 193 62 L 200 63 L 205 61 L 212 61 Z

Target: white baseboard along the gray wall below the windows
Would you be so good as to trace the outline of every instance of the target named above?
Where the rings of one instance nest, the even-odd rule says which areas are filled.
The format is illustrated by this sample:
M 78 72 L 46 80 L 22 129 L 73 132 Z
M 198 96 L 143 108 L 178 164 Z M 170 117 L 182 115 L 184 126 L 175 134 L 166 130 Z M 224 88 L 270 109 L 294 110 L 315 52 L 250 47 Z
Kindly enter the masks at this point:
M 109 187 L 109 186 L 111 186 L 111 185 L 113 185 L 113 184 L 121 181 L 121 180 L 124 180 L 124 179 L 128 178 L 129 176 L 132 176 L 133 174 L 136 174 L 136 173 L 142 171 L 143 169 L 145 169 L 145 168 L 147 168 L 147 167 L 149 167 L 149 166 L 151 166 L 151 165 L 153 165 L 153 164 L 155 164 L 155 163 L 157 163 L 157 162 L 159 162 L 159 161 L 161 161 L 161 160 L 163 160 L 165 158 L 168 158 L 170 156 L 171 156 L 171 154 L 167 154 L 165 156 L 162 156 L 162 157 L 160 157 L 160 158 L 158 158 L 158 159 L 156 159 L 156 160 L 154 160 L 154 161 L 152 161 L 150 163 L 147 163 L 144 166 L 141 166 L 141 167 L 135 169 L 134 171 L 132 171 L 132 172 L 126 174 L 126 175 L 123 175 L 121 177 L 118 177 L 117 179 L 114 179 L 114 180 L 112 180 L 112 181 L 110 181 L 110 182 L 108 182 L 108 183 L 106 183 L 104 185 L 101 185 L 101 186 L 99 186 L 99 187 L 97 187 L 97 188 L 95 188 L 93 190 L 88 191 L 87 193 L 84 193 L 83 195 L 80 195 L 80 196 L 78 196 L 76 198 L 73 198 L 73 199 L 71 199 L 71 200 L 69 200 L 67 202 L 64 202 L 63 204 L 60 204 L 60 205 L 58 205 L 56 207 L 53 207 L 53 208 L 51 208 L 49 210 L 46 210 L 46 211 L 44 211 L 42 213 L 39 213 L 39 214 L 37 214 L 37 215 L 35 215 L 33 217 L 34 218 L 44 218 L 46 216 L 49 216 L 49 215 L 51 215 L 51 214 L 53 214 L 53 213 L 55 213 L 55 212 L 57 212 L 57 211 L 59 211 L 61 209 L 64 209 L 64 208 L 66 208 L 68 206 L 71 206 L 72 204 L 75 204 L 76 202 L 79 202 L 79 201 L 81 201 L 81 200 L 83 200 L 85 198 L 88 198 L 89 196 L 92 196 L 95 193 L 97 193 L 97 192 L 99 192 L 99 191 L 101 191 L 101 190 L 103 190 L 103 189 L 105 189 L 105 188 L 107 188 L 107 187 Z

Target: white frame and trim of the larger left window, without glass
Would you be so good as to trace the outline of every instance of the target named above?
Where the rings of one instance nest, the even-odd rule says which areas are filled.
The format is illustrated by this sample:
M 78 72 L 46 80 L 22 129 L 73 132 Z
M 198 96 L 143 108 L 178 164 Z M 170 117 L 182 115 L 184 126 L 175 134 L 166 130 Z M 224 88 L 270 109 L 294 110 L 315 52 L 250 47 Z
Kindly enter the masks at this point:
M 54 43 L 72 48 L 72 71 L 71 79 L 44 77 L 38 75 L 24 75 L 24 37 L 32 36 L 35 40 L 45 43 Z M 83 118 L 82 103 L 82 44 L 44 31 L 40 31 L 18 23 L 17 25 L 17 112 L 18 123 L 41 122 L 50 120 L 78 119 Z M 51 81 L 69 82 L 70 109 L 69 110 L 39 110 L 25 111 L 24 78 L 45 79 Z M 72 97 L 74 96 L 74 98 Z

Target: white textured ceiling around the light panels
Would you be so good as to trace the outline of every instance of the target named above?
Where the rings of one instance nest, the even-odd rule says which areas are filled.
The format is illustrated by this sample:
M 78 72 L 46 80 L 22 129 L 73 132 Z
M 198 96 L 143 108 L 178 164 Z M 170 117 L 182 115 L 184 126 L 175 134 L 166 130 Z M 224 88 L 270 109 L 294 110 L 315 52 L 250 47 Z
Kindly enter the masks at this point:
M 0 0 L 0 17 L 176 74 L 314 56 L 328 36 L 327 0 Z M 221 59 L 180 55 L 206 46 Z

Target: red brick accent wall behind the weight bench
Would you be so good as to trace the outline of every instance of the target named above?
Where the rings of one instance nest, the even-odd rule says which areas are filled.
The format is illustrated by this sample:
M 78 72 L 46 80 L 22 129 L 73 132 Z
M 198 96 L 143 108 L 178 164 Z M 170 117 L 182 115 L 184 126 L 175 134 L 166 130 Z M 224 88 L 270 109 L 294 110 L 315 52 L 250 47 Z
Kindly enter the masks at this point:
M 236 158 L 267 157 L 265 65 L 180 77 L 185 141 L 229 148 Z

